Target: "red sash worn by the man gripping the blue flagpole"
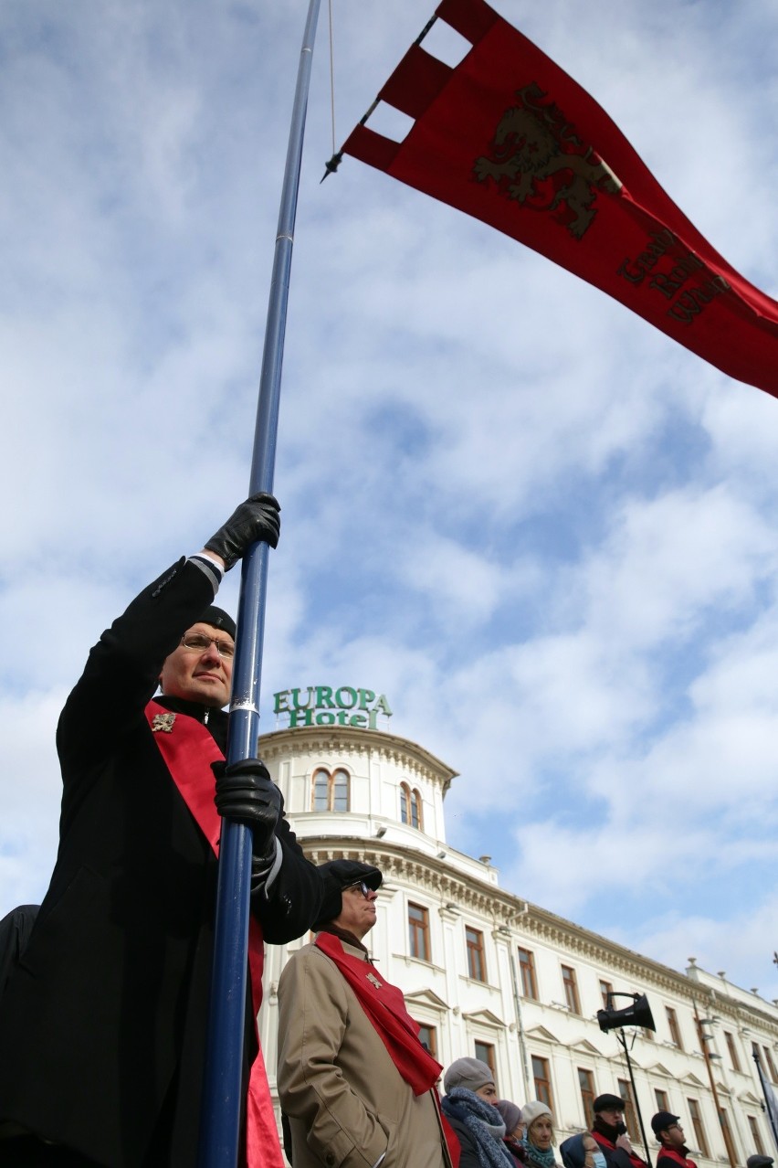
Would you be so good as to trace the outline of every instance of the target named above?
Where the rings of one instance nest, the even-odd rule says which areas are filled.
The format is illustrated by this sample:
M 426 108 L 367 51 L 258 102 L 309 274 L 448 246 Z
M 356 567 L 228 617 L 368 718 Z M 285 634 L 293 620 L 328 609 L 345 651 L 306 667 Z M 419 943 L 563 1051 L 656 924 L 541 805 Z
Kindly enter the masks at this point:
M 224 755 L 197 718 L 187 714 L 173 714 L 157 702 L 148 703 L 146 717 L 170 778 L 218 856 L 222 816 L 213 804 L 215 780 L 211 763 L 223 762 Z M 254 1007 L 257 1057 L 251 1068 L 246 1098 L 246 1161 L 248 1168 L 260 1163 L 262 1168 L 285 1168 L 255 1021 L 262 1001 L 264 960 L 262 930 L 259 922 L 250 916 L 248 973 Z

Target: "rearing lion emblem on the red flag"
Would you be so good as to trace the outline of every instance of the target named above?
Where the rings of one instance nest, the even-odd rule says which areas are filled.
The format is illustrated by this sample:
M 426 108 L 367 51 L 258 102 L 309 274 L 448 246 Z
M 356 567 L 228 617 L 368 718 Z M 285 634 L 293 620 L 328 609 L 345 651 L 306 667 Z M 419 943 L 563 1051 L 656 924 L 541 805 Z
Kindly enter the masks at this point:
M 517 91 L 519 104 L 506 110 L 490 144 L 490 157 L 476 159 L 478 182 L 490 179 L 521 207 L 555 213 L 575 239 L 583 238 L 597 214 L 597 192 L 618 193 L 621 182 L 576 135 L 559 106 L 545 102 L 537 82 Z

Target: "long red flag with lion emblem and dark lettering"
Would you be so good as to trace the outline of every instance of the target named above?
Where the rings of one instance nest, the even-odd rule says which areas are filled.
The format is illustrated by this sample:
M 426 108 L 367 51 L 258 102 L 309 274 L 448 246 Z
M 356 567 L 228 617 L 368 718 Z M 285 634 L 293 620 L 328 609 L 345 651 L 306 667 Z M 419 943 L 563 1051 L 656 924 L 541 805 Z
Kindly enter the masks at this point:
M 360 124 L 343 150 L 588 280 L 730 377 L 778 396 L 778 303 L 743 279 L 663 190 L 586 90 L 483 0 L 439 19 L 472 48 L 419 44 L 379 98 L 398 144 Z

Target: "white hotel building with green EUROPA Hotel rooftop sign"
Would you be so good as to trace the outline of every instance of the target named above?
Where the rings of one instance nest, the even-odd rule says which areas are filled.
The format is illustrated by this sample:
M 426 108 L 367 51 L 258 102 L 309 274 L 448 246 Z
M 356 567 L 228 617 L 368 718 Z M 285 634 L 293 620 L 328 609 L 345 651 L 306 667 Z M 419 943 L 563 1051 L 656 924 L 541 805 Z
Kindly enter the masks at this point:
M 260 757 L 314 863 L 346 856 L 384 874 L 365 944 L 443 1066 L 463 1055 L 484 1059 L 502 1098 L 549 1104 L 560 1141 L 589 1126 L 591 1101 L 609 1091 L 624 1098 L 633 1145 L 645 1154 L 637 1092 L 651 1161 L 650 1120 L 659 1110 L 681 1117 L 700 1168 L 743 1166 L 756 1152 L 778 1159 L 752 1057 L 756 1050 L 778 1083 L 776 1003 L 694 959 L 679 973 L 500 889 L 489 856 L 448 847 L 443 801 L 456 772 L 379 729 L 391 712 L 385 698 L 371 712 L 369 690 L 288 693 L 297 697 L 276 695 L 276 710 L 280 698 L 287 711 L 307 701 L 308 712 L 290 712 L 299 724 L 262 736 Z M 271 1089 L 278 980 L 307 940 L 267 948 L 259 1021 Z M 647 995 L 656 1033 L 603 1033 L 596 1015 L 609 992 Z M 612 1000 L 616 1009 L 630 1004 Z

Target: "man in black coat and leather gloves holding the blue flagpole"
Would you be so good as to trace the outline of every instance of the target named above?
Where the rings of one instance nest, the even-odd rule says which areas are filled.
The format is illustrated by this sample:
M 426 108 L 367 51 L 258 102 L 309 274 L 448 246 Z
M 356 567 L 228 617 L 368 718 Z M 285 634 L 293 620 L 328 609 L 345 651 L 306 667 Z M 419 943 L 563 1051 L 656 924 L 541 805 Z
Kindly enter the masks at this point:
M 59 850 L 0 999 L 0 1128 L 24 1133 L 0 1139 L 2 1164 L 197 1162 L 219 816 L 252 828 L 250 981 L 262 932 L 286 943 L 318 913 L 321 878 L 264 765 L 224 765 L 236 626 L 213 599 L 278 538 L 272 495 L 241 503 L 103 633 L 65 702 Z M 257 1008 L 244 1132 L 265 1122 L 275 1139 Z M 261 1162 L 281 1163 L 276 1139 Z

